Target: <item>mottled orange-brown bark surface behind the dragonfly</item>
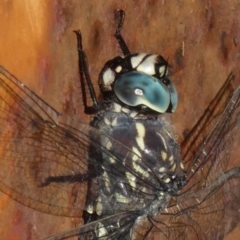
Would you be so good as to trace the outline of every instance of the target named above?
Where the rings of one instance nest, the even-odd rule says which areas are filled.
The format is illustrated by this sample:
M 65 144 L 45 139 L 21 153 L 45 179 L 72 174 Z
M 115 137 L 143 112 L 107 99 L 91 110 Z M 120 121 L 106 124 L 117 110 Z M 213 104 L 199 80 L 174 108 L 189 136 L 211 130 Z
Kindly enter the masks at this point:
M 50 1 L 49 1 L 50 2 Z M 239 81 L 239 1 L 2 1 L 0 65 L 58 111 L 83 122 L 78 55 L 73 30 L 81 29 L 97 86 L 104 63 L 120 54 L 114 10 L 124 9 L 123 36 L 132 52 L 157 53 L 172 66 L 180 102 L 172 116 L 179 141 L 233 71 Z M 232 165 L 239 164 L 234 155 Z M 16 176 L 17 181 L 17 176 Z M 42 214 L 0 194 L 1 239 L 42 239 L 80 219 Z M 237 230 L 226 239 L 236 239 Z

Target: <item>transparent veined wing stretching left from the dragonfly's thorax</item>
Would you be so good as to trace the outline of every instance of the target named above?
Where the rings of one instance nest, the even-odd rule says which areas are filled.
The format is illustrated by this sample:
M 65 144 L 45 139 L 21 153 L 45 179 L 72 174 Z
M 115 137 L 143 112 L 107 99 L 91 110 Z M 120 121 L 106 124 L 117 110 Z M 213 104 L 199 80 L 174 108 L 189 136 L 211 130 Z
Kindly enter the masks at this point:
M 114 144 L 114 152 L 104 147 L 108 141 Z M 90 145 L 95 154 L 89 155 Z M 143 183 L 154 188 L 158 182 L 153 174 L 147 178 L 144 172 L 134 171 L 134 153 L 127 147 L 59 114 L 2 67 L 0 154 L 0 190 L 28 207 L 54 215 L 81 217 L 87 182 L 98 177 L 103 155 L 115 161 L 104 164 L 109 175 L 106 181 L 122 179 L 122 184 L 129 185 L 130 180 L 124 181 L 128 171 L 139 179 L 136 189 Z M 90 164 L 94 169 L 89 169 Z M 141 167 L 148 169 L 144 162 Z M 92 191 L 97 192 L 97 187 Z

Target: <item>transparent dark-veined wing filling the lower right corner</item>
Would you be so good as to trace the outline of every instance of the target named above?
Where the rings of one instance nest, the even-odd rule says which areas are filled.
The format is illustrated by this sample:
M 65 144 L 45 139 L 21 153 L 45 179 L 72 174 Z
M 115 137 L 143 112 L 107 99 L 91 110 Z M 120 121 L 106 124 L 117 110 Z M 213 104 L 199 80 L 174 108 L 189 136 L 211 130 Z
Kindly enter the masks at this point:
M 240 87 L 188 169 L 187 185 L 152 219 L 161 239 L 223 239 L 239 222 L 240 168 L 227 169 L 239 144 L 239 112 Z

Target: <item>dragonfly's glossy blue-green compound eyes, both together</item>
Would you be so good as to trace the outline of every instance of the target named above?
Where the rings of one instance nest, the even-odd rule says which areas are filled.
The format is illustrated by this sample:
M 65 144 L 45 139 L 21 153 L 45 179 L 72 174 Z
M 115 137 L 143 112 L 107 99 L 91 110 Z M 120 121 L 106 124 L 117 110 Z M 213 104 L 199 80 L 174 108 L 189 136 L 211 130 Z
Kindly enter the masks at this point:
M 166 86 L 157 78 L 142 72 L 129 72 L 121 75 L 114 84 L 118 99 L 128 106 L 145 105 L 156 112 L 166 112 L 170 102 L 176 109 L 177 92 L 171 83 Z

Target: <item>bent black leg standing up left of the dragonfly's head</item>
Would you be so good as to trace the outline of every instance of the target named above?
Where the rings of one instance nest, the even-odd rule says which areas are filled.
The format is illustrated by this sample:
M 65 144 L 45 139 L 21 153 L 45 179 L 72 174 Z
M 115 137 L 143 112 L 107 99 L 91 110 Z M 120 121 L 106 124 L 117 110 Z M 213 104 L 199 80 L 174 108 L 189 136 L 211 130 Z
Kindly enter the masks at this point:
M 97 101 L 96 93 L 92 84 L 92 80 L 89 75 L 88 71 L 88 64 L 87 64 L 87 57 L 85 52 L 82 48 L 82 35 L 80 30 L 74 31 L 77 35 L 77 47 L 78 47 L 78 57 L 79 57 L 79 74 L 80 74 L 80 82 L 82 87 L 82 98 L 83 98 L 83 104 L 85 108 L 86 114 L 94 114 L 99 109 L 99 103 Z M 89 92 L 93 101 L 93 106 L 88 107 L 87 106 L 87 96 L 86 96 L 86 86 L 84 82 L 84 76 L 87 82 L 87 86 L 89 88 Z

